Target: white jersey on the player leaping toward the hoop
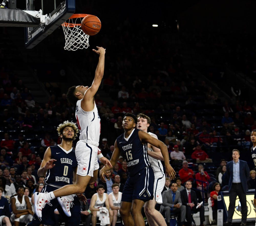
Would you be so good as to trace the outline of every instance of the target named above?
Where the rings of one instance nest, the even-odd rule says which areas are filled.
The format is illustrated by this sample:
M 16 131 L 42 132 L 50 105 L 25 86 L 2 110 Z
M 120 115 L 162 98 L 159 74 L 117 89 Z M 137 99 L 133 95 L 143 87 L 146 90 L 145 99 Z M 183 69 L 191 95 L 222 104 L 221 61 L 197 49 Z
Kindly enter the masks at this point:
M 94 101 L 94 108 L 92 111 L 84 111 L 81 108 L 81 100 L 77 101 L 76 119 L 77 126 L 80 131 L 79 140 L 99 146 L 100 140 L 100 116 Z

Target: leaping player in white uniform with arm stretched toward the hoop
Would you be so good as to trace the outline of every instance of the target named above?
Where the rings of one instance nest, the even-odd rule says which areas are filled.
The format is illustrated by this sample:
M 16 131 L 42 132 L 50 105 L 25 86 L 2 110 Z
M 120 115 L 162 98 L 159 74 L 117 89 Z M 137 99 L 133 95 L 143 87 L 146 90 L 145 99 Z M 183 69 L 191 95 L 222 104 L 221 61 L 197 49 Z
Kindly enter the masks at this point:
M 76 118 L 78 129 L 80 130 L 80 140 L 77 142 L 75 150 L 78 162 L 76 183 L 66 185 L 46 194 L 35 193 L 35 213 L 39 218 L 42 216 L 42 209 L 45 207 L 45 204 L 57 197 L 62 197 L 62 209 L 67 216 L 71 216 L 70 202 L 75 196 L 72 194 L 83 193 L 89 181 L 97 179 L 100 117 L 94 101 L 94 95 L 98 91 L 103 78 L 105 61 L 105 49 L 103 47 L 97 48 L 98 50 L 93 49 L 93 51 L 100 56 L 92 85 L 90 87 L 82 85 L 72 86 L 67 93 L 68 100 L 76 104 Z M 98 158 L 104 164 L 110 164 L 101 153 Z

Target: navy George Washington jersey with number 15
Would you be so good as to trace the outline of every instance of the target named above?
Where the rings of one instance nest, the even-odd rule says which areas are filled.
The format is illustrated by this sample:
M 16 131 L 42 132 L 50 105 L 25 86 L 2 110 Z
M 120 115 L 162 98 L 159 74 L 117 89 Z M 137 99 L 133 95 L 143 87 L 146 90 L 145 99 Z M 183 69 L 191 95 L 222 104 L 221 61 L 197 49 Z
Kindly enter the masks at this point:
M 124 134 L 116 139 L 117 146 L 127 162 L 128 172 L 131 176 L 150 166 L 147 143 L 141 143 L 138 131 L 140 130 L 134 129 L 127 139 L 124 138 Z

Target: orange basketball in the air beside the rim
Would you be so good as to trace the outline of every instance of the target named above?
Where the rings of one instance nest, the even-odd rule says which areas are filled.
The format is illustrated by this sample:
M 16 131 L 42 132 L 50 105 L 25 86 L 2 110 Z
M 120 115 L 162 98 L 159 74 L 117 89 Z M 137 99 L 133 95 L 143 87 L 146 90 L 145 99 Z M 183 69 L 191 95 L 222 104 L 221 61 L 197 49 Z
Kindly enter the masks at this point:
M 101 29 L 101 22 L 97 16 L 87 15 L 83 18 L 81 29 L 87 35 L 96 35 Z

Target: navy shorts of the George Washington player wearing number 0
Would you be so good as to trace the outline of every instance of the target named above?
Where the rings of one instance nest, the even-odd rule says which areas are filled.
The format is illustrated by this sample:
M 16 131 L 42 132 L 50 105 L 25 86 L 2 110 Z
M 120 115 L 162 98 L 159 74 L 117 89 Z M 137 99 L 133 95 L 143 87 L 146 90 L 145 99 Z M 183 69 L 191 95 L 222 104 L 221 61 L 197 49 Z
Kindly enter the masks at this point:
M 58 189 L 57 187 L 45 185 L 42 188 L 41 192 L 48 193 L 50 191 L 55 191 L 57 189 Z M 61 206 L 59 205 L 57 198 L 55 198 L 50 201 L 50 204 L 52 206 L 45 204 L 45 207 L 42 209 L 42 220 L 40 221 L 39 218 L 36 216 L 36 214 L 34 214 L 33 220 L 30 223 L 28 223 L 28 226 L 39 226 L 40 224 L 55 225 L 56 224 L 56 218 L 55 218 L 55 214 L 54 214 L 55 209 L 58 209 L 63 221 L 70 221 L 70 224 L 68 224 L 68 225 L 70 225 L 70 226 L 71 225 L 72 226 L 79 225 L 79 223 L 81 221 L 80 201 L 75 196 L 74 200 L 72 202 L 73 202 L 73 206 L 70 208 L 71 217 L 67 217 L 64 214 Z

